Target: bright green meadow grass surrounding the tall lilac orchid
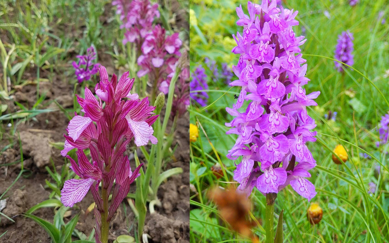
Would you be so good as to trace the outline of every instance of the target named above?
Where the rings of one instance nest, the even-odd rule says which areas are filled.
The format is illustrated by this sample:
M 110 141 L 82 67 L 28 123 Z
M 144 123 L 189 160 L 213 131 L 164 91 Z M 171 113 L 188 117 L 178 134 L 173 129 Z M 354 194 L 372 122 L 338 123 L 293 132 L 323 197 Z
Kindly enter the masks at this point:
M 361 0 L 355 7 L 350 7 L 346 0 L 286 2 L 285 8 L 299 11 L 296 19 L 300 25 L 294 31 L 302 35 L 305 28 L 307 42 L 301 53 L 307 59 L 307 77 L 311 81 L 304 87 L 307 93 L 321 92 L 315 100 L 318 106 L 308 110 L 317 124 L 317 142 L 309 143 L 308 148 L 317 161 L 309 179 L 317 191 L 312 202 L 322 207 L 323 218 L 318 225 L 311 226 L 307 220 L 310 203 L 290 186 L 286 187 L 275 203 L 276 218 L 284 209 L 284 242 L 388 242 L 389 173 L 385 152 L 388 146 L 377 148 L 375 142 L 379 140 L 380 117 L 389 110 L 386 73 L 389 70 L 389 5 L 384 0 Z M 199 64 L 206 67 L 205 57 L 219 64 L 237 63 L 239 56 L 231 54 L 235 45 L 231 44 L 231 34 L 242 32 L 235 24 L 235 7 L 239 4 L 247 13 L 247 2 L 242 1 L 191 2 L 191 72 Z M 328 11 L 329 18 L 324 11 Z M 385 24 L 378 19 L 379 11 L 384 11 Z M 193 24 L 194 16 L 197 26 Z M 338 35 L 345 30 L 354 34 L 355 64 L 342 75 L 334 69 L 332 58 Z M 210 70 L 206 68 L 206 71 L 211 76 Z M 198 191 L 191 197 L 191 242 L 244 242 L 228 229 L 219 218 L 216 206 L 207 198 L 212 185 L 226 187 L 226 182 L 233 182 L 235 166 L 225 155 L 235 143 L 236 135 L 225 134 L 228 128 L 224 123 L 232 119 L 225 108 L 232 107 L 233 95 L 240 89 L 222 81 L 214 82 L 211 77 L 208 84 L 209 105 L 190 107 L 191 123 L 201 124 L 214 146 L 212 149 L 201 128 L 198 141 L 191 143 L 191 183 Z M 329 110 L 338 112 L 335 122 L 324 119 Z M 331 151 L 337 144 L 348 151 L 349 160 L 342 165 L 331 159 Z M 364 152 L 371 158 L 359 156 Z M 226 166 L 226 178 L 217 180 L 212 175 L 210 167 L 217 163 Z M 379 175 L 375 172 L 376 165 L 381 165 Z M 368 193 L 369 182 L 377 184 L 375 194 Z M 265 196 L 254 189 L 250 199 L 253 218 L 264 219 Z M 261 241 L 265 239 L 261 226 L 254 232 Z

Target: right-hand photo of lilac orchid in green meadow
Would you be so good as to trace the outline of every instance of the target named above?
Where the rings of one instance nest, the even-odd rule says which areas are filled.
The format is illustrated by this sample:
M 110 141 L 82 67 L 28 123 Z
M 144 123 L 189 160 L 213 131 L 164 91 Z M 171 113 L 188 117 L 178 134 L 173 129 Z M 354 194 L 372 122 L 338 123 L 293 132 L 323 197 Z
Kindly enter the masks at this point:
M 191 242 L 388 242 L 388 2 L 189 8 Z

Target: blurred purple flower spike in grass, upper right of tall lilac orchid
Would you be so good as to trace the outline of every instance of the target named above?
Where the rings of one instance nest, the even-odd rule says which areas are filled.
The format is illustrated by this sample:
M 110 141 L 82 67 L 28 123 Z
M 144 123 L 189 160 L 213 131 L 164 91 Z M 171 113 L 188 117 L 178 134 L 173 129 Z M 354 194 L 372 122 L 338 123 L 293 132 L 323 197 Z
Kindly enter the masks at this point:
M 354 44 L 352 41 L 354 37 L 350 31 L 343 31 L 342 35 L 338 36 L 338 44 L 335 49 L 335 59 L 341 61 L 342 63 L 346 63 L 349 66 L 354 64 L 354 55 L 352 51 L 354 51 Z M 338 72 L 343 72 L 343 68 L 347 68 L 342 63 L 334 61 L 335 69 Z

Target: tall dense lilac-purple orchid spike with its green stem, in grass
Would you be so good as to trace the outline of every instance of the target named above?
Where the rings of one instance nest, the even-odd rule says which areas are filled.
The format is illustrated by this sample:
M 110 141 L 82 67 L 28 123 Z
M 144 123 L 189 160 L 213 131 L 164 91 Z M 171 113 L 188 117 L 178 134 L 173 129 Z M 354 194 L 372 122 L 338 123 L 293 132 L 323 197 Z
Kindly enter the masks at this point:
M 306 179 L 316 165 L 305 144 L 316 140 L 316 132 L 310 131 L 315 122 L 306 107 L 317 105 L 312 99 L 319 92 L 306 94 L 302 87 L 309 79 L 299 48 L 305 40 L 292 28 L 298 25 L 297 11 L 276 5 L 276 0 L 248 2 L 249 16 L 237 7 L 243 33 L 233 35 L 237 46 L 232 52 L 240 58 L 233 66 L 238 80 L 230 85 L 242 89 L 237 103 L 226 108 L 235 117 L 226 123 L 231 127 L 227 134 L 238 135 L 227 156 L 234 160 L 242 156 L 234 171 L 238 190 L 249 196 L 256 187 L 266 195 L 266 242 L 273 241 L 273 204 L 281 189 L 290 184 L 308 201 L 316 195 Z

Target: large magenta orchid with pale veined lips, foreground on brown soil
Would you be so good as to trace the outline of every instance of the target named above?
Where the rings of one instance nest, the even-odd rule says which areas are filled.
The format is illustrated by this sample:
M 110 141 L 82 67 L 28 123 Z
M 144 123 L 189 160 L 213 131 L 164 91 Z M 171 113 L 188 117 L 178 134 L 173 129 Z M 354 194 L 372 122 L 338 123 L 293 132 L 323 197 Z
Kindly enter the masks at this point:
M 85 97 L 77 96 L 82 114 L 75 114 L 69 122 L 68 135 L 64 135 L 66 140 L 61 155 L 70 160 L 70 168 L 80 179 L 65 182 L 61 202 L 72 207 L 90 190 L 96 202 L 96 242 L 106 243 L 109 222 L 130 191 L 130 184 L 140 175 L 142 166 L 131 171 L 130 161 L 123 153 L 132 138 L 136 146 L 158 142 L 151 127 L 158 115 L 152 112 L 155 107 L 149 105 L 147 97 L 140 100 L 138 94 L 130 93 L 135 79 L 128 77 L 129 72 L 119 81 L 113 74 L 109 81 L 105 67 L 100 66 L 98 70 L 100 82 L 95 86 L 98 99 L 85 87 Z M 77 149 L 78 163 L 67 155 L 72 149 Z M 83 149 L 90 150 L 91 160 Z M 100 182 L 101 193 L 98 190 Z

